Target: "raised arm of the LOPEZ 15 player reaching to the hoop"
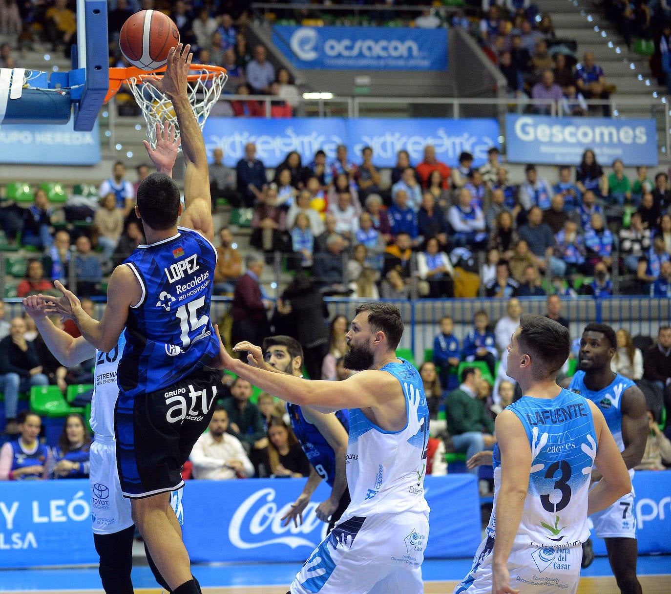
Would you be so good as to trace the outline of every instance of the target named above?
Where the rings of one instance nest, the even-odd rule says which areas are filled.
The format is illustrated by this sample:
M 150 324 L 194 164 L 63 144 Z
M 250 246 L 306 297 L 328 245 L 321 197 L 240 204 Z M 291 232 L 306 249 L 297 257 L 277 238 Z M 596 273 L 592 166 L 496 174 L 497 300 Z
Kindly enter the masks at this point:
M 180 225 L 201 232 L 208 239 L 214 238 L 212 201 L 209 191 L 209 171 L 205 141 L 191 109 L 187 96 L 187 75 L 193 54 L 191 46 L 179 44 L 168 52 L 168 64 L 156 89 L 168 95 L 182 136 L 182 152 L 187 162 L 184 179 L 185 211 Z

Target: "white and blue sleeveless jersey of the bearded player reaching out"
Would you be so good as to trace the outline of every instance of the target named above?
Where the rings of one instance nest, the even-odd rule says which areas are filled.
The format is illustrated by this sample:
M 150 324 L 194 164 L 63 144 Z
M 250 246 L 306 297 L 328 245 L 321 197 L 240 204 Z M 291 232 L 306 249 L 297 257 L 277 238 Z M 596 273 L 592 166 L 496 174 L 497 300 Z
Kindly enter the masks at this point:
M 382 367 L 401 383 L 407 425 L 386 432 L 360 409 L 350 411 L 347 481 L 352 497 L 343 519 L 376 513 L 428 513 L 424 497 L 429 409 L 421 378 L 407 361 Z

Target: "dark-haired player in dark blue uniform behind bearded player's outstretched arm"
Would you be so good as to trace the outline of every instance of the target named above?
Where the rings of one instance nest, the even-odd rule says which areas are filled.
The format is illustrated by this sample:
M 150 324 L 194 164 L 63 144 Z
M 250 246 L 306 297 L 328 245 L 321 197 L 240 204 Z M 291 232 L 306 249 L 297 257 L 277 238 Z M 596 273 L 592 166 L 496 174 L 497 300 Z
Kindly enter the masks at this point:
M 258 346 L 245 344 L 244 348 L 249 352 L 253 350 L 256 354 L 257 358 L 250 361 L 252 364 L 264 366 Z M 262 354 L 267 363 L 266 368 L 303 377 L 303 348 L 295 338 L 269 336 L 263 341 Z M 284 526 L 291 520 L 295 526 L 303 523 L 303 510 L 310 503 L 321 480 L 325 479 L 331 487 L 331 496 L 319 503 L 316 513 L 319 519 L 328 522 L 328 534 L 350 505 L 350 491 L 345 473 L 350 412 L 342 410 L 336 413 L 320 413 L 309 406 L 287 403 L 287 413 L 291 419 L 291 428 L 310 461 L 310 475 L 303 487 L 303 493 L 282 516 L 285 520 Z

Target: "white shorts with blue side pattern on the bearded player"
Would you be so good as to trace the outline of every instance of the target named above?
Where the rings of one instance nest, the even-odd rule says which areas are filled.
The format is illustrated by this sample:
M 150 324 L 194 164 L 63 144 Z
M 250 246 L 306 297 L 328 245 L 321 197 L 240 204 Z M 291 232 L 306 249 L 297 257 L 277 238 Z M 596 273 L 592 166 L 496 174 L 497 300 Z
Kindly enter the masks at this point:
M 291 594 L 421 594 L 428 538 L 423 513 L 350 517 L 314 550 Z

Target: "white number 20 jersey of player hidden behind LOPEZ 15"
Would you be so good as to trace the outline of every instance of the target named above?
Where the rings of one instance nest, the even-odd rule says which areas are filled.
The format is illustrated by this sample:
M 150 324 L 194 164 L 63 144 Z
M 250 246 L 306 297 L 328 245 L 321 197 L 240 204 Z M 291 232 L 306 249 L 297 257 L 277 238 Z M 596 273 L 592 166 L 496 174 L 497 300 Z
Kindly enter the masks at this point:
M 117 367 L 125 345 L 125 333 L 109 352 L 95 352 L 93 399 L 91 400 L 91 430 L 96 436 L 114 438 L 114 406 L 119 397 Z

